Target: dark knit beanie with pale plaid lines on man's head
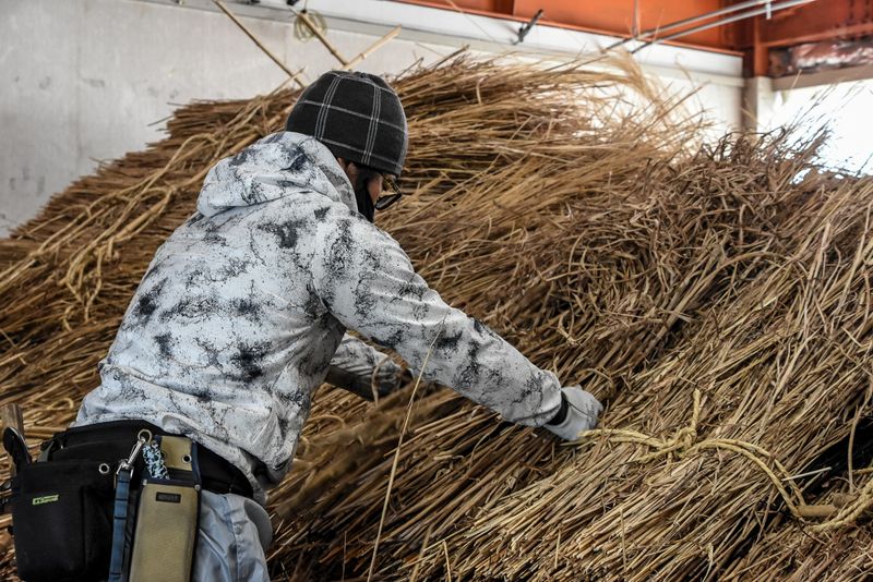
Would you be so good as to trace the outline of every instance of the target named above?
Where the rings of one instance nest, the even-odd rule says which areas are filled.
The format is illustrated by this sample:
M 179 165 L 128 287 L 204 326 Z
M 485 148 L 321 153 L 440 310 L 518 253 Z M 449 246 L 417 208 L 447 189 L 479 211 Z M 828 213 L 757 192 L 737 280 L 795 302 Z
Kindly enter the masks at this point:
M 337 158 L 400 175 L 406 114 L 394 89 L 376 75 L 330 71 L 308 86 L 285 129 L 311 135 Z

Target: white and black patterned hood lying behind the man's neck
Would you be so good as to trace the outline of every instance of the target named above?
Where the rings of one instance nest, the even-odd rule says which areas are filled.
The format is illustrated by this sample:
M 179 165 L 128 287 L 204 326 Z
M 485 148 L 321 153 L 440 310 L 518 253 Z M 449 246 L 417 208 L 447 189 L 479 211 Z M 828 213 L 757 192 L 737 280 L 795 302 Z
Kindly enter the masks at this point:
M 203 181 L 198 210 L 211 217 L 301 190 L 358 211 L 351 183 L 331 150 L 309 135 L 278 132 L 216 163 Z

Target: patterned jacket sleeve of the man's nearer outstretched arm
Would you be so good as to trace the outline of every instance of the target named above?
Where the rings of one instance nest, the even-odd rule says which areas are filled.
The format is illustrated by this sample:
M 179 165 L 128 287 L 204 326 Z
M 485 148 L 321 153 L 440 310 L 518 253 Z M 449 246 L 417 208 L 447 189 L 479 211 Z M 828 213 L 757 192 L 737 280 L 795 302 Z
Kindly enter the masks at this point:
M 319 238 L 313 287 L 346 328 L 395 350 L 416 372 L 427 359 L 426 379 L 507 421 L 539 426 L 558 412 L 561 385 L 554 374 L 443 302 L 387 233 L 346 216 L 324 223 Z

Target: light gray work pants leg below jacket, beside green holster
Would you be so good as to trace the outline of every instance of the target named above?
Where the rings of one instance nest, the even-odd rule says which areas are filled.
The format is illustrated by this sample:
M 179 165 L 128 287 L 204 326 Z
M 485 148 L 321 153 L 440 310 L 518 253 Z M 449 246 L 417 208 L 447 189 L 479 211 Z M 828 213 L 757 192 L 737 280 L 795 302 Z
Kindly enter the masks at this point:
M 270 582 L 270 516 L 246 497 L 202 492 L 193 582 Z

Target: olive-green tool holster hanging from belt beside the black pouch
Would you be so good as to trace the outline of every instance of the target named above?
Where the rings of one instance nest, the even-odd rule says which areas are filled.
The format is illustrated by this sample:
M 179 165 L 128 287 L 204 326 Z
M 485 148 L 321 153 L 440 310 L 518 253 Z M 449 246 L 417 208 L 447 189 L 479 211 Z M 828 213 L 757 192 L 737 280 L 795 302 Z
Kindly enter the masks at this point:
M 200 517 L 196 444 L 157 436 L 169 478 L 146 476 L 140 490 L 129 582 L 188 582 Z

